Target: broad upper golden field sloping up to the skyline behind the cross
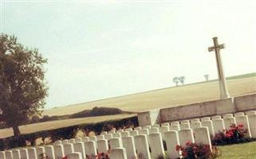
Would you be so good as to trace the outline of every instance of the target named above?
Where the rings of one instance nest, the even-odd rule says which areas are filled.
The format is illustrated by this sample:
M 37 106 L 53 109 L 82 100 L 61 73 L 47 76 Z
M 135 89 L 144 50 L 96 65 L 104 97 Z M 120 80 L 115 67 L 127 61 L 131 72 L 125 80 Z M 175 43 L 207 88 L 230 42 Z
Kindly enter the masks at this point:
M 231 96 L 245 95 L 256 92 L 256 76 L 242 76 L 227 80 Z M 238 76 L 241 77 L 241 76 Z M 133 95 L 125 95 L 111 99 L 102 99 L 89 103 L 78 103 L 67 107 L 45 110 L 43 114 L 73 114 L 93 107 L 117 107 L 122 111 L 146 111 L 160 107 L 173 107 L 187 103 L 199 103 L 219 99 L 218 81 L 187 84 L 180 87 L 168 87 L 160 90 L 146 91 Z

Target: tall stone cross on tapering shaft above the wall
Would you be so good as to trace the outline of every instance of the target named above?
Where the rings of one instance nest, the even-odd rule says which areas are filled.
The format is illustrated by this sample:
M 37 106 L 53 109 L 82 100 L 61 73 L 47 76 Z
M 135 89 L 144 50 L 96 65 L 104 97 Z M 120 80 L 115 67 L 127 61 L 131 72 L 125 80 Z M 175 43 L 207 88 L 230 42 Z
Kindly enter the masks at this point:
M 219 76 L 219 90 L 220 90 L 220 99 L 226 99 L 229 98 L 230 95 L 227 92 L 227 87 L 226 87 L 226 77 L 224 76 L 223 72 L 223 64 L 221 60 L 221 56 L 219 54 L 219 50 L 225 48 L 225 45 L 219 45 L 218 44 L 218 37 L 213 37 L 214 41 L 214 46 L 211 46 L 208 48 L 208 51 L 215 51 L 215 56 L 217 60 L 217 68 L 218 68 L 218 76 Z

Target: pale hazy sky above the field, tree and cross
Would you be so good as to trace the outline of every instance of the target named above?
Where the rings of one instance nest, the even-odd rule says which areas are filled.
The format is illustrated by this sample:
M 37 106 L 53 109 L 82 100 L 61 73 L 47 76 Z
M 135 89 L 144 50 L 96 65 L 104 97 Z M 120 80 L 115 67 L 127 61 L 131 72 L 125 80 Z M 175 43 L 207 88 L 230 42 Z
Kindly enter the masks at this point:
M 255 1 L 5 1 L 1 33 L 48 59 L 45 108 L 256 72 Z

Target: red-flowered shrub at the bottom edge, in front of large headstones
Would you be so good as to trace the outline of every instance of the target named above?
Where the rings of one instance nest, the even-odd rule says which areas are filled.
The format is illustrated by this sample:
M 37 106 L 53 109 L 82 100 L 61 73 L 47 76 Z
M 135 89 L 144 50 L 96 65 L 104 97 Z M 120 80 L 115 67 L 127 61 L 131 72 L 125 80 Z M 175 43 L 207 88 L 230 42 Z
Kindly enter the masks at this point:
M 176 145 L 176 150 L 181 151 L 183 159 L 214 159 L 220 153 L 216 146 L 213 146 L 211 151 L 210 145 L 191 142 L 187 142 L 185 147 Z

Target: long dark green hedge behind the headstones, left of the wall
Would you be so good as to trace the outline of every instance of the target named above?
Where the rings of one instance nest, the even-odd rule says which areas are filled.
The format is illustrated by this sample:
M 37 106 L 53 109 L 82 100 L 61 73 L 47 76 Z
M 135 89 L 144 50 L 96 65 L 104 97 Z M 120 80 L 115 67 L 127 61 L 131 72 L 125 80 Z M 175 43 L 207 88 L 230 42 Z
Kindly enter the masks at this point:
M 100 134 L 101 131 L 109 131 L 112 129 L 112 127 L 115 127 L 116 130 L 118 130 L 133 126 L 139 126 L 137 117 L 98 122 L 93 124 L 68 126 L 56 130 L 38 131 L 32 134 L 22 134 L 19 137 L 13 136 L 9 138 L 2 138 L 0 139 L 0 150 L 12 149 L 15 147 L 24 147 L 26 146 L 26 141 L 31 142 L 31 145 L 35 145 L 35 141 L 37 138 L 42 138 L 43 141 L 45 138 L 51 138 L 52 142 L 60 139 L 74 138 L 78 130 L 83 130 L 84 133 L 88 135 L 90 131 L 94 131 L 96 134 Z

